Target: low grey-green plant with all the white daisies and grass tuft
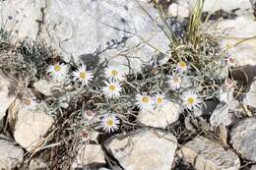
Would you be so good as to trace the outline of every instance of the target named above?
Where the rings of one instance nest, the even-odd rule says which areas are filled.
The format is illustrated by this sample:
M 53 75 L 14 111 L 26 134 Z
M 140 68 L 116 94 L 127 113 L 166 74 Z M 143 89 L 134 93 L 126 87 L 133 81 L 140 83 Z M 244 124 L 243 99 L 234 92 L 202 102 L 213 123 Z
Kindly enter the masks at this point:
M 220 98 L 222 87 L 233 86 L 227 78 L 235 61 L 202 23 L 203 0 L 198 1 L 184 25 L 168 16 L 166 4 L 152 3 L 160 13 L 160 28 L 169 38 L 169 50 L 159 51 L 163 63 L 153 62 L 141 72 L 129 74 L 108 65 L 107 60 L 91 69 L 88 66 L 92 63 L 62 61 L 43 43 L 24 41 L 11 45 L 6 32 L 0 29 L 0 68 L 17 80 L 17 90 L 22 95 L 38 80 L 55 83 L 59 88 L 52 89 L 57 91 L 53 96 L 22 96 L 23 102 L 35 109 L 39 100 L 45 101 L 48 114 L 72 119 L 68 129 L 73 134 L 77 129 L 83 130 L 82 140 L 87 142 L 87 131 L 92 129 L 110 134 L 142 127 L 137 121 L 141 110 L 158 114 L 165 107 L 179 107 L 193 117 L 206 100 Z M 179 33 L 175 28 L 179 28 Z M 156 60 L 160 55 L 156 55 Z M 57 122 L 66 126 L 65 119 Z

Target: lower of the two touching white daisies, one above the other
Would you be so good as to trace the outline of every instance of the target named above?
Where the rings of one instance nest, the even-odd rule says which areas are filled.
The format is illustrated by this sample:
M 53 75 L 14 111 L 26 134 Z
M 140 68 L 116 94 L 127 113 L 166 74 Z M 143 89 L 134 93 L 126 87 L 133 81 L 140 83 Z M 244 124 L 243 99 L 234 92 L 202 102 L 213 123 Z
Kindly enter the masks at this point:
M 105 96 L 108 98 L 118 98 L 120 91 L 122 90 L 121 85 L 116 82 L 104 82 L 106 86 L 103 86 L 102 90 Z

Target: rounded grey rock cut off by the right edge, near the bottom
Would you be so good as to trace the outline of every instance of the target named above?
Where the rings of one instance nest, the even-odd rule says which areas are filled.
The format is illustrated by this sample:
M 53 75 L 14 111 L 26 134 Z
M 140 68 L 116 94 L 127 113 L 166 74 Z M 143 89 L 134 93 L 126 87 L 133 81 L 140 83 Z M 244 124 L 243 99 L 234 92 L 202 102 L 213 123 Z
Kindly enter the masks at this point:
M 256 118 L 237 123 L 230 131 L 230 143 L 244 158 L 256 161 Z

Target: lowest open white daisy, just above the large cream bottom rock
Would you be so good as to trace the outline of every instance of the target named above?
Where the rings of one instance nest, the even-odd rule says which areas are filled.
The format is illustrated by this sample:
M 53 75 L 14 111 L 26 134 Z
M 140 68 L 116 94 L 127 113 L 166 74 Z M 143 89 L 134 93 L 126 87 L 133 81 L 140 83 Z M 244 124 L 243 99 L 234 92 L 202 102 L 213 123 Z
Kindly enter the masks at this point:
M 101 126 L 106 133 L 117 131 L 119 124 L 120 121 L 113 114 L 106 114 L 101 119 Z

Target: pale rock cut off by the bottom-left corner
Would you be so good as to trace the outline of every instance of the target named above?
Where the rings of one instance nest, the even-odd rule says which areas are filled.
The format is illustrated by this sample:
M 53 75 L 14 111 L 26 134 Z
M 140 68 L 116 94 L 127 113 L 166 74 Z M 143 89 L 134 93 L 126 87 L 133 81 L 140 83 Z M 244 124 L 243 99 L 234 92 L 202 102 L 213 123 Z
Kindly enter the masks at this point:
M 23 161 L 24 151 L 15 142 L 9 142 L 0 136 L 0 169 L 13 169 Z

